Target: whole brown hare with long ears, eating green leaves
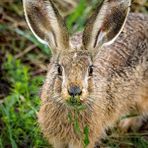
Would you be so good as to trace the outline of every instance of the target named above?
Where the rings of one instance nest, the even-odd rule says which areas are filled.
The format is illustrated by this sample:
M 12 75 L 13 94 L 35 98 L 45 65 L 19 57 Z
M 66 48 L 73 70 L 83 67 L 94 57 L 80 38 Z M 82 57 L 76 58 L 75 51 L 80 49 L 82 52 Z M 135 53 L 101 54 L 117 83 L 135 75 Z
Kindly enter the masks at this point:
M 52 0 L 23 0 L 27 23 L 52 59 L 42 88 L 38 122 L 55 148 L 88 148 L 123 115 L 148 112 L 148 16 L 132 14 L 130 0 L 104 0 L 83 33 L 69 37 Z M 69 100 L 85 105 L 78 114 Z M 88 135 L 84 134 L 88 126 Z

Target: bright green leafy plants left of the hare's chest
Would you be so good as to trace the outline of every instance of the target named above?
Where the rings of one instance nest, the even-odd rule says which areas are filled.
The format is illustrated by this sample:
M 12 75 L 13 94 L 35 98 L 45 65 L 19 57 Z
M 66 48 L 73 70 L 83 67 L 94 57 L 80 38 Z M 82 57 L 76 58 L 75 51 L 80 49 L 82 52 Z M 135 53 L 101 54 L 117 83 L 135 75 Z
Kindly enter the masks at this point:
M 46 147 L 37 124 L 40 99 L 39 87 L 43 77 L 31 78 L 29 68 L 8 55 L 3 65 L 11 82 L 11 90 L 0 105 L 1 147 Z

